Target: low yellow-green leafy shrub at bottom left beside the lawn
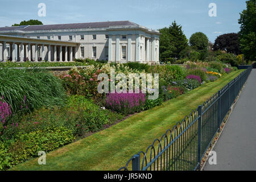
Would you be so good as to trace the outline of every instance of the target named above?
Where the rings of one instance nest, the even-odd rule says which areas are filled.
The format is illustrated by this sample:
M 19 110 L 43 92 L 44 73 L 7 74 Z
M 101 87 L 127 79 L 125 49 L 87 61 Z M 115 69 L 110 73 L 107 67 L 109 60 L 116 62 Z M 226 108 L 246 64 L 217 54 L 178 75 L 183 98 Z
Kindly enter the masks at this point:
M 43 130 L 20 134 L 16 141 L 9 146 L 8 152 L 12 164 L 15 165 L 38 156 L 38 151 L 49 152 L 71 143 L 74 139 L 71 131 L 64 127 L 46 127 Z

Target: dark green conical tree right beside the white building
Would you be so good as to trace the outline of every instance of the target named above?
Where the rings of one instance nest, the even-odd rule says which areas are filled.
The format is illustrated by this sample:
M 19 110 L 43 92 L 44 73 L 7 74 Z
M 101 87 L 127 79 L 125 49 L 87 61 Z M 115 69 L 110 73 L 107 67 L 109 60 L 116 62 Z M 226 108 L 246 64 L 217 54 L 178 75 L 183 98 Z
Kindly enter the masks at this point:
M 172 22 L 169 28 L 165 27 L 159 30 L 160 35 L 160 59 L 180 58 L 180 53 L 188 47 L 188 40 L 181 30 L 181 26 Z

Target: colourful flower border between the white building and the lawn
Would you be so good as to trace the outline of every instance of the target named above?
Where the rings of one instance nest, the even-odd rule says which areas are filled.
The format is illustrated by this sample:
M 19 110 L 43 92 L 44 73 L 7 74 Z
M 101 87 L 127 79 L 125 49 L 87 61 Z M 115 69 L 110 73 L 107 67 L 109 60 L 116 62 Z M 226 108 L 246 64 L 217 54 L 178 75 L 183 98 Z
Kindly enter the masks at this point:
M 7 63 L 7 68 L 0 69 L 1 170 L 35 158 L 38 151 L 49 152 L 107 129 L 237 70 L 217 61 L 187 61 L 184 66 L 77 61 L 73 64 L 89 67 L 74 67 L 59 77 L 43 69 L 49 63 L 34 69 L 10 69 L 16 65 Z M 100 73 L 110 76 L 110 69 L 116 75 L 159 73 L 159 97 L 149 100 L 149 94 L 141 92 L 98 93 L 102 80 L 97 77 Z

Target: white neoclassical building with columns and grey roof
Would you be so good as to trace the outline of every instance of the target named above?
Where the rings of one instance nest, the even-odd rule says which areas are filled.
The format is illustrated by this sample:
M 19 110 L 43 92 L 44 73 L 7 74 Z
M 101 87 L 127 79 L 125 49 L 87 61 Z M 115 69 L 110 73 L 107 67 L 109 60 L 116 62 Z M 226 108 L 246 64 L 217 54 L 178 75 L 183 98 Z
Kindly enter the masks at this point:
M 159 63 L 159 31 L 130 21 L 0 27 L 0 61 Z

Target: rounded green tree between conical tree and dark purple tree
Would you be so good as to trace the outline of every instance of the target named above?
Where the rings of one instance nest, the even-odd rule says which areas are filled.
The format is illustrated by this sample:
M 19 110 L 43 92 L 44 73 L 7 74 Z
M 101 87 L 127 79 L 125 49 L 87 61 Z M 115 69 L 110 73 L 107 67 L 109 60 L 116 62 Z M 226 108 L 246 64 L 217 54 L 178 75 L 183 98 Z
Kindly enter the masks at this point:
M 189 45 L 191 48 L 200 53 L 200 59 L 204 60 L 208 52 L 209 40 L 207 36 L 202 32 L 196 32 L 191 35 L 189 39 Z

